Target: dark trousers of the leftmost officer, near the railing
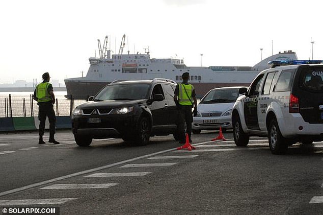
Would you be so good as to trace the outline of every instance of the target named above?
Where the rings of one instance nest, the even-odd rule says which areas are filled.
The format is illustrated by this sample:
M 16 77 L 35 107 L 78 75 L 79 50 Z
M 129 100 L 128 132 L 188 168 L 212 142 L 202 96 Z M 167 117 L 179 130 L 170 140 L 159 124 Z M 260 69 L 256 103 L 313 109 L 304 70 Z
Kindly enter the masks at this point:
M 43 136 L 45 133 L 46 117 L 49 121 L 49 139 L 54 138 L 56 129 L 56 115 L 51 101 L 38 102 L 38 120 L 39 124 L 39 136 Z

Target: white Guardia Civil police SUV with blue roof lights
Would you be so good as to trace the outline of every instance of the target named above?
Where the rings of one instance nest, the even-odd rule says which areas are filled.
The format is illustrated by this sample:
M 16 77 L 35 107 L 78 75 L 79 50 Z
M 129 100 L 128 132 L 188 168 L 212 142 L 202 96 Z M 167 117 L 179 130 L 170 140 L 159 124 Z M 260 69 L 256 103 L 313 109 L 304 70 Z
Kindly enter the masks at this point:
M 323 61 L 270 61 L 232 109 L 236 146 L 251 135 L 268 136 L 273 154 L 295 142 L 323 140 Z

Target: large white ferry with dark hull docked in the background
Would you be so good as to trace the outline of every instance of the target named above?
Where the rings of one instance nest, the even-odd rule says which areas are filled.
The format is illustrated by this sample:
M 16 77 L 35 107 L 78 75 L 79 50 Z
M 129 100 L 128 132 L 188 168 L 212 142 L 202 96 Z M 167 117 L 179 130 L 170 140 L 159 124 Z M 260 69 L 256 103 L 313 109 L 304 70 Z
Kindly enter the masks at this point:
M 254 66 L 186 66 L 180 58 L 151 58 L 149 49 L 145 53 L 123 54 L 125 35 L 118 54 L 107 47 L 107 36 L 103 46 L 98 39 L 99 57 L 90 57 L 90 67 L 85 77 L 64 79 L 66 98 L 87 99 L 102 87 L 115 80 L 171 79 L 182 82 L 181 75 L 190 73 L 197 97 L 201 98 L 210 89 L 227 86 L 249 86 L 263 69 L 270 68 L 268 61 L 298 60 L 291 50 L 267 57 Z M 112 54 L 112 55 L 111 55 Z

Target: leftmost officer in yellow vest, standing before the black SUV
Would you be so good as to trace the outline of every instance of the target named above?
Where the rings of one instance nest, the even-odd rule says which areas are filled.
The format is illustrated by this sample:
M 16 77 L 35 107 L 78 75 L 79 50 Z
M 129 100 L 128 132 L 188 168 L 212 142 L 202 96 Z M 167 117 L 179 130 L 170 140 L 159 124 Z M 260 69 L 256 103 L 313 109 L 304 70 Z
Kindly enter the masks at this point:
M 34 100 L 38 104 L 38 120 L 39 124 L 39 142 L 38 144 L 45 144 L 43 140 L 43 135 L 45 133 L 45 122 L 46 117 L 49 121 L 49 140 L 53 144 L 60 144 L 54 138 L 55 128 L 56 128 L 56 116 L 53 108 L 55 103 L 55 95 L 52 89 L 51 83 L 49 83 L 49 73 L 43 74 L 43 82 L 38 84 L 34 91 Z

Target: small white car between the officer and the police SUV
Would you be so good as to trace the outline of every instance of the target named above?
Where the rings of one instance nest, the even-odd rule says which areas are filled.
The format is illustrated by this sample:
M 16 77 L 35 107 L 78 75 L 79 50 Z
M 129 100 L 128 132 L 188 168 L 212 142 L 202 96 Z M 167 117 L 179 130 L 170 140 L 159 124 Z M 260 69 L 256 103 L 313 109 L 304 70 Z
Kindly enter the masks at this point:
M 242 95 L 239 90 L 247 87 L 220 87 L 208 91 L 197 106 L 197 116 L 193 117 L 192 132 L 201 130 L 232 129 L 231 112 L 236 99 Z

